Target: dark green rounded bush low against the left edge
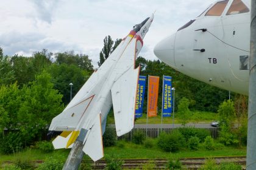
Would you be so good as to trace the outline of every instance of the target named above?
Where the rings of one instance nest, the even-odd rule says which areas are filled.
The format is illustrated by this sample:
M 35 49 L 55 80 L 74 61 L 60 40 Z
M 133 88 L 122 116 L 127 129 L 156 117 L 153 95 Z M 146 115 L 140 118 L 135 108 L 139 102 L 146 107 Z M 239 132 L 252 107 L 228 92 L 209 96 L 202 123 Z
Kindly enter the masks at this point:
M 0 152 L 2 154 L 13 154 L 22 151 L 23 140 L 18 132 L 10 132 L 0 139 L 0 145 Z

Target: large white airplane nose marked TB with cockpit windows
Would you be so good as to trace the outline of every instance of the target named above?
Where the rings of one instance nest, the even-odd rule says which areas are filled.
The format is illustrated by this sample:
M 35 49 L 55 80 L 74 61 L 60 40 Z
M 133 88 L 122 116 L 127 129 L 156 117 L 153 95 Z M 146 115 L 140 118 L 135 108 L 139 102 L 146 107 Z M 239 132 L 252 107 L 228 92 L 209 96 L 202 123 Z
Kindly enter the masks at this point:
M 155 55 L 197 80 L 248 95 L 249 0 L 222 0 L 160 41 Z

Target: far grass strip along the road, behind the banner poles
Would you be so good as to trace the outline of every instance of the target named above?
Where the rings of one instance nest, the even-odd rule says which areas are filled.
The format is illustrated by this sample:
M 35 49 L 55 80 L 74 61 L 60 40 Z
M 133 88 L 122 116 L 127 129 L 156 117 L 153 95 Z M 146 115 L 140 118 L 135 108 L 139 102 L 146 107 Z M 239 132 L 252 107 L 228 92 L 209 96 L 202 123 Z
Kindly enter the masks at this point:
M 174 123 L 180 124 L 179 112 L 174 113 Z M 151 117 L 148 119 L 148 124 L 160 124 L 161 123 L 161 115 L 157 115 L 157 117 Z M 219 115 L 213 112 L 200 112 L 200 111 L 191 111 L 190 123 L 211 123 L 214 120 L 218 120 Z M 107 118 L 108 124 L 115 124 L 115 119 L 113 113 L 110 114 Z M 135 120 L 135 124 L 146 124 L 147 116 L 146 113 L 143 113 L 141 118 L 137 118 Z M 172 117 L 163 118 L 163 124 L 171 124 Z

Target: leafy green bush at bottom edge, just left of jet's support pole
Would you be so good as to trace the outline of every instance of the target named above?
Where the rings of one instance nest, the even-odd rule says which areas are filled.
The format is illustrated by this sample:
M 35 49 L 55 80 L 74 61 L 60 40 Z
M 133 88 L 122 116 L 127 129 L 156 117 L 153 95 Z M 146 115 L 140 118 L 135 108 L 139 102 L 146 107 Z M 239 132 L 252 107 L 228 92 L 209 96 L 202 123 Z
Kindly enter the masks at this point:
M 65 158 L 63 157 L 48 157 L 36 170 L 60 170 L 63 168 L 64 163 Z

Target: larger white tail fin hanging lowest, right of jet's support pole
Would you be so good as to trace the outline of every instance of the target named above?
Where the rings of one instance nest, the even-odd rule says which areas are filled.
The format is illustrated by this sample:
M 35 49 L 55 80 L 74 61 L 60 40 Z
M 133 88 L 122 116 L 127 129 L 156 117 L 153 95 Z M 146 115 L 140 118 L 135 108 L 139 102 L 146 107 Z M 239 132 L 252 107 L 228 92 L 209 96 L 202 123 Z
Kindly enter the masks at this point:
M 89 155 L 93 161 L 104 157 L 101 114 L 98 114 L 94 120 L 93 127 L 91 127 L 90 134 L 88 134 L 87 140 L 85 141 L 83 151 L 85 154 Z

